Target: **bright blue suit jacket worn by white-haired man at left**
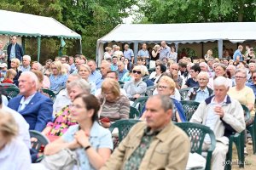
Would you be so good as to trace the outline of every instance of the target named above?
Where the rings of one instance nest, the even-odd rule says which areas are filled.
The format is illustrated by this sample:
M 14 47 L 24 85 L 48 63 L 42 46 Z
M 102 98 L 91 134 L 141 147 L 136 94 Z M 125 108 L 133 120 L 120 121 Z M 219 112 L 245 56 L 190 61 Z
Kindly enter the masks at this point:
M 8 107 L 18 111 L 20 100 L 23 95 L 18 95 L 9 100 Z M 18 111 L 29 124 L 30 130 L 37 130 L 39 132 L 44 130 L 47 122 L 52 121 L 53 102 L 43 94 L 36 93 L 26 105 L 25 109 Z

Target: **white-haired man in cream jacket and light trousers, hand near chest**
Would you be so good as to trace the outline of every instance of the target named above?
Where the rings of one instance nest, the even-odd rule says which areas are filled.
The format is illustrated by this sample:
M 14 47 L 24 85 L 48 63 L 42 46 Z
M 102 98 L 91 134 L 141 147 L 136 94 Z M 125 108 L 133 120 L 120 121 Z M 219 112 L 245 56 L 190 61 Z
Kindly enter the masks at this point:
M 227 95 L 229 81 L 217 77 L 213 82 L 214 95 L 201 102 L 190 122 L 210 127 L 215 134 L 217 144 L 212 153 L 212 169 L 224 169 L 224 161 L 229 150 L 229 136 L 233 132 L 241 133 L 246 127 L 243 110 L 236 99 Z M 207 149 L 211 139 L 205 138 L 203 148 Z

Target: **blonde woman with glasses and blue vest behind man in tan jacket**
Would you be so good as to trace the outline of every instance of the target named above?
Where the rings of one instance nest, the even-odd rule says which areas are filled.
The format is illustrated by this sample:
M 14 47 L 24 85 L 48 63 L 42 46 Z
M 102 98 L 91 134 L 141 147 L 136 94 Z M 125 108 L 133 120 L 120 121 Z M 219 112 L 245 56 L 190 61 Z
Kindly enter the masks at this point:
M 175 87 L 176 87 L 176 84 L 171 77 L 163 76 L 163 77 L 160 77 L 160 81 L 157 84 L 157 92 L 158 94 L 171 96 L 172 94 L 174 94 Z M 170 97 L 170 99 L 172 98 Z M 186 116 L 183 111 L 183 106 L 180 104 L 179 101 L 177 101 L 177 99 L 172 99 L 172 102 L 174 104 L 173 111 L 172 111 L 173 113 L 172 121 L 186 122 Z M 144 120 L 145 118 L 146 117 L 143 114 L 141 119 Z

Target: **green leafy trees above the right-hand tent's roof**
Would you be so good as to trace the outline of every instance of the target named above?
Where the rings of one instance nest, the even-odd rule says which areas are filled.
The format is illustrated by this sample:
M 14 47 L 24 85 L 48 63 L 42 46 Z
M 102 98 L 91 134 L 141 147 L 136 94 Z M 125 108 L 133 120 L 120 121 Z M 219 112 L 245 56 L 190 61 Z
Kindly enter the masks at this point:
M 139 8 L 157 24 L 256 21 L 253 0 L 144 0 Z

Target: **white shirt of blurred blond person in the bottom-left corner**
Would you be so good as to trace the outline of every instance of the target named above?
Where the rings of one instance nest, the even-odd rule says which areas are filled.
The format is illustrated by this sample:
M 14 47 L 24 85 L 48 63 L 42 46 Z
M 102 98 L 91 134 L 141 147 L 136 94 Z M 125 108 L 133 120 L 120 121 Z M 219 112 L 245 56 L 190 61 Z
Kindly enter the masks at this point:
M 28 148 L 20 139 L 13 139 L 0 150 L 1 170 L 29 170 L 31 157 Z

